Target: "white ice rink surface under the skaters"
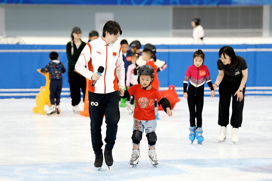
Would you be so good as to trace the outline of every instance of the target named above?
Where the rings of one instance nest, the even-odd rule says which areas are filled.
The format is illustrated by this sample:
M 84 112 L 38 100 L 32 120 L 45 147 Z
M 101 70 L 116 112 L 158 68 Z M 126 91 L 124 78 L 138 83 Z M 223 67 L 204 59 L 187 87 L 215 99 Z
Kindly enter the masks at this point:
M 104 161 L 100 171 L 93 165 L 90 119 L 73 113 L 70 98 L 61 98 L 59 116 L 33 113 L 35 99 L 0 99 L 0 180 L 272 180 L 272 97 L 245 97 L 235 145 L 231 125 L 226 141 L 217 142 L 219 97 L 204 97 L 204 141 L 191 144 L 187 101 L 180 99 L 173 116 L 159 111 L 157 168 L 149 161 L 144 135 L 138 167 L 128 164 L 133 120 L 120 107 L 114 163 L 109 170 Z M 83 109 L 82 102 L 79 106 Z M 103 139 L 105 129 L 103 122 Z

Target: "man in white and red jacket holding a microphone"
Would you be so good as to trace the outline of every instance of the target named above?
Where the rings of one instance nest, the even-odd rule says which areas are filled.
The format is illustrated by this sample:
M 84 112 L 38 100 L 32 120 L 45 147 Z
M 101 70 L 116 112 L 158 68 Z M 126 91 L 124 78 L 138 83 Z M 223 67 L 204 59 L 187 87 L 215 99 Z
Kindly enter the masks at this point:
M 125 67 L 121 45 L 115 43 L 122 34 L 116 21 L 108 21 L 100 38 L 86 44 L 75 69 L 89 79 L 89 113 L 91 119 L 92 148 L 96 154 L 94 166 L 101 169 L 103 163 L 101 126 L 105 114 L 105 162 L 112 166 L 112 148 L 115 144 L 117 123 L 120 119 L 119 94 L 124 92 Z M 85 66 L 88 65 L 88 69 Z M 104 71 L 97 72 L 99 67 Z M 100 74 L 101 73 L 101 74 Z M 94 86 L 92 84 L 97 81 Z

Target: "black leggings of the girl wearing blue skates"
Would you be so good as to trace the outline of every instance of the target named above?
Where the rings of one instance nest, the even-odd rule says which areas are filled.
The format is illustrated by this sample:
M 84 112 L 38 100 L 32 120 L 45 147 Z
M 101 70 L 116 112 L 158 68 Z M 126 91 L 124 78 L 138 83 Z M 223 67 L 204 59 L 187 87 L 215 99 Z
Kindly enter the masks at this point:
M 190 112 L 190 126 L 196 126 L 196 129 L 201 128 L 204 96 L 194 96 L 188 94 L 187 101 Z

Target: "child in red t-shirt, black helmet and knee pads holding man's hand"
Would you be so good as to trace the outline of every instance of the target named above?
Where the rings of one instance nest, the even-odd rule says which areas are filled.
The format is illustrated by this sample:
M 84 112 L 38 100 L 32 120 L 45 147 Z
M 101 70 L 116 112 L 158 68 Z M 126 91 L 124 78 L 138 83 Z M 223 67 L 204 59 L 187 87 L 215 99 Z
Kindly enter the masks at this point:
M 154 69 L 150 65 L 143 65 L 138 71 L 138 76 L 140 78 L 140 84 L 131 86 L 128 90 L 125 90 L 123 94 L 120 94 L 121 98 L 126 98 L 130 95 L 135 97 L 135 108 L 133 115 L 133 134 L 132 134 L 132 154 L 129 164 L 132 167 L 136 167 L 139 162 L 140 157 L 140 141 L 142 139 L 142 134 L 145 129 L 147 141 L 148 141 L 148 155 L 151 164 L 157 167 L 158 160 L 155 151 L 155 145 L 157 141 L 157 136 L 155 133 L 157 127 L 154 100 L 155 98 L 159 100 L 158 105 L 162 106 L 164 111 L 168 116 L 172 116 L 171 106 L 169 100 L 162 97 L 160 91 L 150 85 L 154 79 Z

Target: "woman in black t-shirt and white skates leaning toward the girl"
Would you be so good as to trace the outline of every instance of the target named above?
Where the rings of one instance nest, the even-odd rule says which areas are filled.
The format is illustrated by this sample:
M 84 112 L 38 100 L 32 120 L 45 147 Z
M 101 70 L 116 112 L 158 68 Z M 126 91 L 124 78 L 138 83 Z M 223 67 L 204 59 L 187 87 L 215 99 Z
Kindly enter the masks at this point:
M 218 142 L 225 141 L 227 125 L 229 123 L 229 106 L 232 97 L 232 141 L 238 142 L 238 128 L 241 127 L 244 108 L 245 84 L 248 78 L 248 66 L 244 58 L 236 56 L 230 46 L 223 46 L 219 50 L 217 61 L 218 76 L 213 89 L 219 86 L 219 115 L 218 124 L 221 130 Z M 239 101 L 238 101 L 239 100 Z

